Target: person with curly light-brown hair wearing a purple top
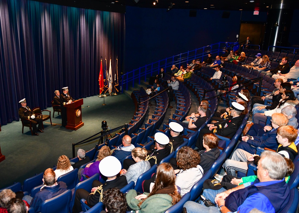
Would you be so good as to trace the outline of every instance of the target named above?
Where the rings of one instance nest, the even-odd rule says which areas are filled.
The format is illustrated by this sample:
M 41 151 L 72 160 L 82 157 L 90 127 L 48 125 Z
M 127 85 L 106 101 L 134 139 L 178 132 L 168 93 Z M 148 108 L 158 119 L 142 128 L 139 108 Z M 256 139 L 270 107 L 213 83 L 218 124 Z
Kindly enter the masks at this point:
M 95 175 L 97 173 L 100 174 L 100 178 L 99 178 L 99 180 L 100 180 L 101 173 L 100 173 L 100 169 L 99 169 L 99 163 L 101 160 L 103 160 L 104 158 L 106 158 L 107 156 L 110 156 L 110 155 L 111 155 L 111 150 L 109 149 L 109 147 L 103 146 L 99 150 L 99 153 L 97 154 L 97 160 L 94 163 L 89 163 L 86 165 L 86 167 L 84 169 L 79 169 L 78 178 L 80 179 L 80 181 L 84 180 L 84 178 L 82 177 L 83 175 L 91 177 L 92 175 Z

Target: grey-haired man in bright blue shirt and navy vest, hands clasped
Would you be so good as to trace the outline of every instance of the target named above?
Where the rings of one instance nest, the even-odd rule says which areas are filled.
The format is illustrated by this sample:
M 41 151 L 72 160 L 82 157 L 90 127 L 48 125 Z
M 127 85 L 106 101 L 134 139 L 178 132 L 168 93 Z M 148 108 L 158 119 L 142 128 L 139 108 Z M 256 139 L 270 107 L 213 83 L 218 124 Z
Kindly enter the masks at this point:
M 254 182 L 226 190 L 205 189 L 203 196 L 217 204 L 207 207 L 188 201 L 184 204 L 188 213 L 202 212 L 242 212 L 256 208 L 262 212 L 280 212 L 290 200 L 290 188 L 284 177 L 286 161 L 281 155 L 271 151 L 262 153 L 257 164 L 257 178 Z

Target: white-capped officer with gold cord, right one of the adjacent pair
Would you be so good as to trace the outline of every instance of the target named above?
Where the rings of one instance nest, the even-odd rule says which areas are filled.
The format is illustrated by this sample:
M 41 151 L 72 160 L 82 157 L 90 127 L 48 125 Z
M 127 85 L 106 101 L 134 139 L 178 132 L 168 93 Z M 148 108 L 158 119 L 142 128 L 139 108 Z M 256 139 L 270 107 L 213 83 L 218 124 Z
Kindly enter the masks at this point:
M 170 137 L 169 137 L 168 148 L 170 148 L 170 153 L 171 153 L 173 151 L 176 151 L 176 148 L 178 148 L 178 146 L 184 143 L 184 137 L 183 135 L 180 135 L 180 133 L 184 130 L 184 128 L 183 126 L 181 126 L 181 124 L 178 124 L 176 122 L 170 122 L 169 130 L 170 130 Z

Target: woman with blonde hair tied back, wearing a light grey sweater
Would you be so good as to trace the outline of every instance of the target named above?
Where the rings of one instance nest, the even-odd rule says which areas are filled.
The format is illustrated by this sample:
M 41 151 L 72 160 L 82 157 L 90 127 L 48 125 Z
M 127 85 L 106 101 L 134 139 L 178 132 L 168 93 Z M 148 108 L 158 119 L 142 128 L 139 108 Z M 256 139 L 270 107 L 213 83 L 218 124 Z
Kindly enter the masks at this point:
M 147 150 L 145 148 L 136 147 L 132 150 L 132 158 L 136 162 L 128 169 L 120 170 L 121 175 L 126 175 L 127 182 L 134 181 L 136 184 L 137 179 L 141 174 L 150 169 L 150 163 L 144 161 L 147 157 Z

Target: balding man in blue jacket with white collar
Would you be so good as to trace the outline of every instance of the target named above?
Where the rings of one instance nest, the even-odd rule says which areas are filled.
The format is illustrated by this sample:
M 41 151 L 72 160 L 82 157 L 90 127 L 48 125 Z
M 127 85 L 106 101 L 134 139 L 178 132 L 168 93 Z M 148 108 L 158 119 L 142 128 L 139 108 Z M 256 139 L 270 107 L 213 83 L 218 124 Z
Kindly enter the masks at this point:
M 123 163 L 123 160 L 131 154 L 135 146 L 131 143 L 132 138 L 129 135 L 123 136 L 121 142 L 123 145 L 118 146 L 115 149 L 112 149 L 111 155 L 117 158 L 120 161 L 120 163 Z

